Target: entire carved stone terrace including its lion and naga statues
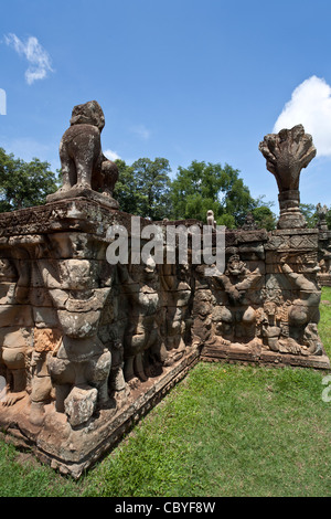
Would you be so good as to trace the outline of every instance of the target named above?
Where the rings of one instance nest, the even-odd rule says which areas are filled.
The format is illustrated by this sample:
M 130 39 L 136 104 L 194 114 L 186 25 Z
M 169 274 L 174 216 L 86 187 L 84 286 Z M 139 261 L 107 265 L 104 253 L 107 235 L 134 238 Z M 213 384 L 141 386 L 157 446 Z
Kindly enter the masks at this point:
M 130 215 L 115 210 L 104 123 L 94 102 L 75 107 L 63 188 L 44 206 L 0 215 L 0 425 L 74 475 L 199 359 L 330 367 L 317 282 L 329 235 L 305 229 L 298 210 L 300 169 L 314 155 L 303 128 L 260 145 L 279 186 L 279 229 L 257 230 L 248 215 L 226 232 L 224 272 L 206 276 L 192 250 L 186 264 L 107 262 L 107 230 L 129 234 Z

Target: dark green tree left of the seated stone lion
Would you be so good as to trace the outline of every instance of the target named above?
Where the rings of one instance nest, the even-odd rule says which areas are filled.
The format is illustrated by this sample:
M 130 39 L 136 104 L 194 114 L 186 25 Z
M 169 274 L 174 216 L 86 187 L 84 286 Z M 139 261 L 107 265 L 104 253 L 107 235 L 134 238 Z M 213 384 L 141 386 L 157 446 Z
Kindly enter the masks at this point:
M 57 188 L 49 162 L 25 162 L 0 148 L 0 212 L 41 205 Z

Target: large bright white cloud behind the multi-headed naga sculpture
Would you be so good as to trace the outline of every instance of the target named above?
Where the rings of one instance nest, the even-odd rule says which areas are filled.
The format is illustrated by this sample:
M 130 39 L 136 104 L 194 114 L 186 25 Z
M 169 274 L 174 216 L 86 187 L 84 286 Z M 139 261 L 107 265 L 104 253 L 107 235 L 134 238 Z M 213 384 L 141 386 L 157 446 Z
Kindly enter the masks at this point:
M 278 117 L 274 133 L 301 124 L 319 157 L 331 157 L 331 86 L 320 77 L 303 81 Z

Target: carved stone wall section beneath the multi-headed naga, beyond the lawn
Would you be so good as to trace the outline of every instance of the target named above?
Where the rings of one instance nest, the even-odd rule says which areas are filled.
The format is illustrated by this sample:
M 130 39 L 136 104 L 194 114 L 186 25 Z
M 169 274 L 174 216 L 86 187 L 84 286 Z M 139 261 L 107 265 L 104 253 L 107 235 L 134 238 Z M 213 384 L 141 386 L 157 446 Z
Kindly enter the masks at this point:
M 328 368 L 318 335 L 318 231 L 233 234 L 226 269 L 210 282 L 202 357 Z

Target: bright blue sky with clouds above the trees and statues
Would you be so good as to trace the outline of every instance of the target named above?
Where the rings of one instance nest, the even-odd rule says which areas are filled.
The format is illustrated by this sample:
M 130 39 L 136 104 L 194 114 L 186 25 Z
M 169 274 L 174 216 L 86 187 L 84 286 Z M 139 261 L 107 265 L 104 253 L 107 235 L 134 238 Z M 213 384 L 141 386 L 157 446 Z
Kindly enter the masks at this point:
M 227 162 L 277 212 L 258 144 L 302 123 L 301 202 L 331 205 L 330 20 L 330 0 L 2 2 L 0 146 L 55 170 L 73 106 L 96 99 L 109 157 Z

